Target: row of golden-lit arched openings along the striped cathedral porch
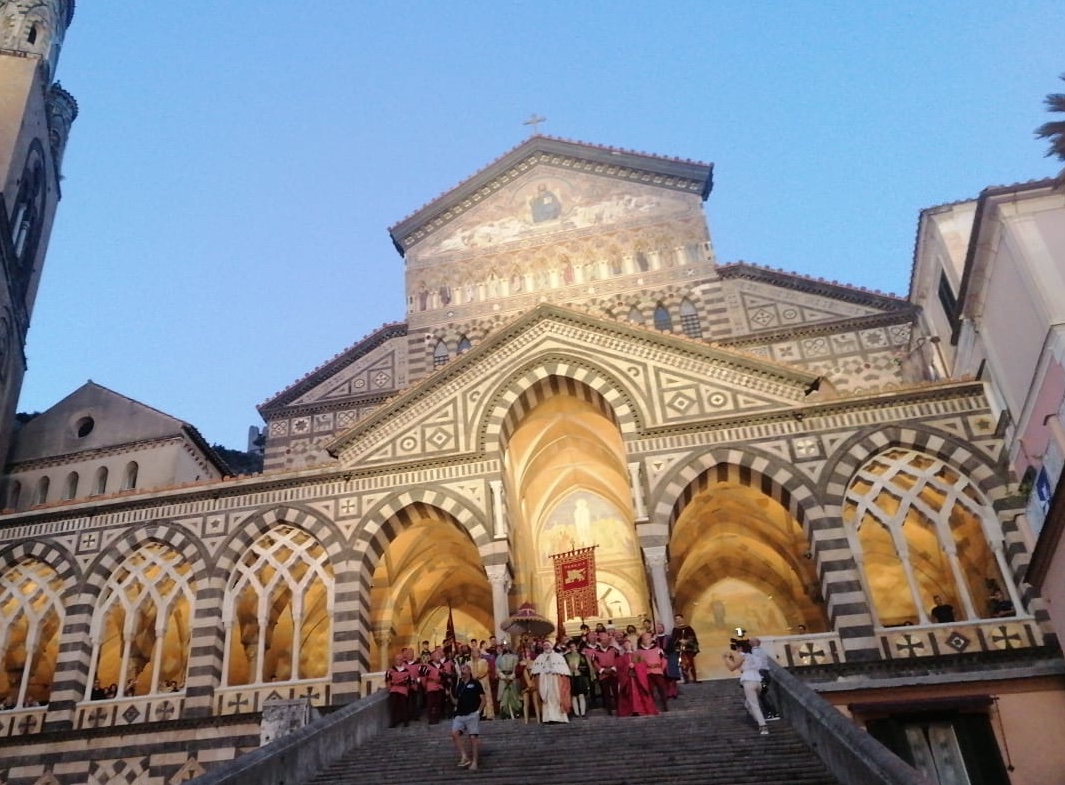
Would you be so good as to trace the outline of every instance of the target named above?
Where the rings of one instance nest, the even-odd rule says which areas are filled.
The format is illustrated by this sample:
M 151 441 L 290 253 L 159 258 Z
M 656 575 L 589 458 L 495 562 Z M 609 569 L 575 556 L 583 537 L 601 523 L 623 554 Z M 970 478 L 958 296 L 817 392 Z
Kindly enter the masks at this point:
M 504 465 L 509 609 L 531 599 L 553 618 L 551 554 L 590 544 L 597 552 L 600 616 L 585 621 L 624 623 L 661 607 L 637 535 L 622 434 L 602 399 L 584 390 L 526 407 Z M 667 607 L 695 627 L 702 676 L 723 674 L 717 652 L 736 627 L 763 636 L 832 632 L 803 525 L 764 490 L 764 478 L 720 470 L 692 484 L 699 490 L 678 510 L 668 545 Z M 854 472 L 841 510 L 878 626 L 929 623 L 934 595 L 964 620 L 1021 607 L 986 498 L 948 461 L 912 448 L 882 451 Z M 398 534 L 373 569 L 372 669 L 402 647 L 442 641 L 449 612 L 460 638 L 487 637 L 498 621 L 484 546 L 468 526 L 429 504 L 409 505 L 396 517 Z M 227 582 L 219 686 L 329 677 L 337 569 L 310 528 L 280 521 L 259 535 Z M 5 705 L 48 701 L 66 588 L 52 567 L 31 557 L 0 573 Z M 95 603 L 92 681 L 114 684 L 119 698 L 180 689 L 197 588 L 178 550 L 157 541 L 136 547 Z

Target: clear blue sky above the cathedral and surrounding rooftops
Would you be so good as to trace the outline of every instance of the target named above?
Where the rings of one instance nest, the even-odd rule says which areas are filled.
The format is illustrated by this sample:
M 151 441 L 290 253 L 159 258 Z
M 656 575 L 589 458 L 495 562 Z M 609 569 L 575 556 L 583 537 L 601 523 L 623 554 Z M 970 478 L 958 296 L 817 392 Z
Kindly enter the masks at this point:
M 905 295 L 918 211 L 1058 164 L 1065 3 L 80 0 L 20 409 L 92 378 L 243 448 L 403 321 L 388 227 L 541 132 L 715 163 L 722 262 Z

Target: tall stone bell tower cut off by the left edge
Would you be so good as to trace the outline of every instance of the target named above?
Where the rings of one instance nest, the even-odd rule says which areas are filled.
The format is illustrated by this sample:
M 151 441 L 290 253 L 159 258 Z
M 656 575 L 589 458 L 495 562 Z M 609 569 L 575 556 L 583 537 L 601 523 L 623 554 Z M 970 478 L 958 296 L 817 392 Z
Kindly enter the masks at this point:
M 0 0 L 0 458 L 5 459 L 26 373 L 33 313 L 60 165 L 78 115 L 53 81 L 75 0 Z

